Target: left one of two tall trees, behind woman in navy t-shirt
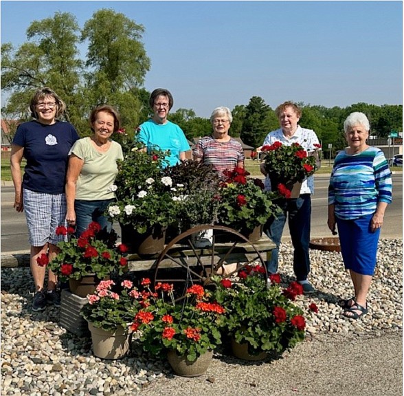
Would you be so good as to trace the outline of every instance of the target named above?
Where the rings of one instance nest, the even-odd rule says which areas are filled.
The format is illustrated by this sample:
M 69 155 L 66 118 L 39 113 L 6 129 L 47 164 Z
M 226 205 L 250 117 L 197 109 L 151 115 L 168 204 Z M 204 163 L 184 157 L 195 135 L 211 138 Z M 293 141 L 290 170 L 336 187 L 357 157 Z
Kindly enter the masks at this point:
M 10 43 L 1 46 L 2 89 L 15 95 L 5 107 L 7 113 L 23 113 L 23 119 L 29 118 L 27 102 L 36 89 L 47 85 L 65 100 L 65 117 L 74 122 L 80 113 L 72 105 L 76 101 L 81 69 L 77 30 L 73 15 L 56 12 L 53 18 L 32 22 L 27 29 L 30 42 L 17 50 Z

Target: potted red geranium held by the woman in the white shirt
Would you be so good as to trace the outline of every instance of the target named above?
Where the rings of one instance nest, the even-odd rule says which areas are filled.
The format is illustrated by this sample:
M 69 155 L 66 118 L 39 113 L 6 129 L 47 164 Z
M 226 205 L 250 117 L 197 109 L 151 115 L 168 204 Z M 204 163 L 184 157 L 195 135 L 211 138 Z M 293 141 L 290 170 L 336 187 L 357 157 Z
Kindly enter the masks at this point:
M 278 189 L 280 194 L 286 198 L 291 197 L 293 184 L 298 183 L 295 188 L 296 194 L 300 193 L 302 181 L 315 173 L 317 169 L 316 157 L 320 144 L 315 144 L 315 151 L 307 153 L 298 143 L 290 146 L 275 142 L 270 146 L 262 146 L 264 153 L 264 167 L 271 179 L 273 190 Z

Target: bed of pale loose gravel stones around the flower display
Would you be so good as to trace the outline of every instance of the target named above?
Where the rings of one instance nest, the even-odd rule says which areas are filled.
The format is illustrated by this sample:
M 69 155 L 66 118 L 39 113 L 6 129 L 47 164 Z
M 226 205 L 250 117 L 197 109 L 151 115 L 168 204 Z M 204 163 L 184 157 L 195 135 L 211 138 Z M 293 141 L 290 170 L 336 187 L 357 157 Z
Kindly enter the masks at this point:
M 294 280 L 291 262 L 291 243 L 283 243 L 279 270 L 285 285 Z M 341 337 L 355 340 L 355 337 L 369 338 L 385 334 L 401 337 L 402 267 L 402 239 L 381 240 L 377 273 L 368 295 L 369 313 L 361 320 L 347 320 L 341 317 L 341 308 L 337 305 L 340 298 L 352 296 L 352 284 L 344 270 L 341 254 L 311 250 L 309 281 L 318 292 L 313 296 L 299 296 L 296 300 L 306 312 L 306 340 L 302 344 L 313 340 L 321 342 L 324 338 L 334 341 L 341 340 Z M 135 344 L 129 355 L 121 360 L 94 357 L 89 338 L 78 338 L 58 325 L 57 308 L 47 307 L 43 312 L 32 312 L 33 292 L 29 268 L 1 269 L 2 395 L 159 395 L 163 388 L 159 389 L 158 384 L 164 384 L 168 390 L 170 382 L 181 385 L 180 388 L 172 388 L 172 395 L 186 395 L 186 388 L 192 389 L 202 381 L 173 376 L 166 362 L 150 359 L 135 348 Z M 308 311 L 311 303 L 317 305 L 317 314 Z M 276 364 L 287 364 L 287 358 L 295 350 L 304 349 L 302 344 L 285 353 L 285 359 L 262 364 L 273 364 L 275 369 Z M 239 382 L 238 389 L 234 386 L 234 381 L 238 383 L 234 375 L 239 376 L 238 370 L 245 366 L 249 367 L 249 363 L 216 353 L 203 382 L 212 384 L 215 378 L 233 378 L 232 386 L 223 385 L 226 388 L 223 389 L 223 395 L 235 392 L 239 395 L 258 395 L 258 389 L 258 393 L 251 391 L 256 387 L 251 384 L 259 382 L 259 378 L 250 380 L 249 393 L 245 391 L 244 380 Z M 293 391 L 291 394 L 300 393 Z

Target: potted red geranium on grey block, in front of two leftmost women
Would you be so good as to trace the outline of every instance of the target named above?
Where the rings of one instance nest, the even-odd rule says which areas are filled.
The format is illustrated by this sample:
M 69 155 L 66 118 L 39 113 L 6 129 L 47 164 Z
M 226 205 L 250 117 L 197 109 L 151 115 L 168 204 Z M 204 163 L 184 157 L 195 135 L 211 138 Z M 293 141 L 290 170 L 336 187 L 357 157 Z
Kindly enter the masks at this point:
M 73 228 L 63 225 L 56 229 L 56 234 L 67 236 L 67 241 L 58 243 L 60 252 L 47 265 L 60 281 L 69 281 L 74 294 L 85 297 L 93 292 L 97 282 L 111 274 L 126 272 L 127 261 L 123 254 L 127 248 L 122 243 L 116 245 L 114 231 L 105 232 L 93 221 L 78 238 L 74 236 Z M 38 260 L 41 261 L 41 257 Z M 91 280 L 81 288 L 80 281 L 87 276 Z

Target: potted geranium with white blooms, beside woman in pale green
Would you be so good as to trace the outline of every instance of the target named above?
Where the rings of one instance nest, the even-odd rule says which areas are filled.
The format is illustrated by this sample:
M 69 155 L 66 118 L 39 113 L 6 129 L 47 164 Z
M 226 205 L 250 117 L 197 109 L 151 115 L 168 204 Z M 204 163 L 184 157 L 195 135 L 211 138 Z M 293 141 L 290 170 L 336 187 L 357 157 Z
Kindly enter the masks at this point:
M 124 160 L 118 162 L 115 184 L 111 186 L 117 201 L 109 205 L 107 214 L 119 221 L 122 241 L 131 250 L 148 255 L 164 248 L 164 230 L 177 219 L 177 203 L 172 199 L 172 180 L 162 173 L 164 153 L 156 149 L 148 154 L 140 148 L 134 143 Z M 133 245 L 133 241 L 144 245 Z

